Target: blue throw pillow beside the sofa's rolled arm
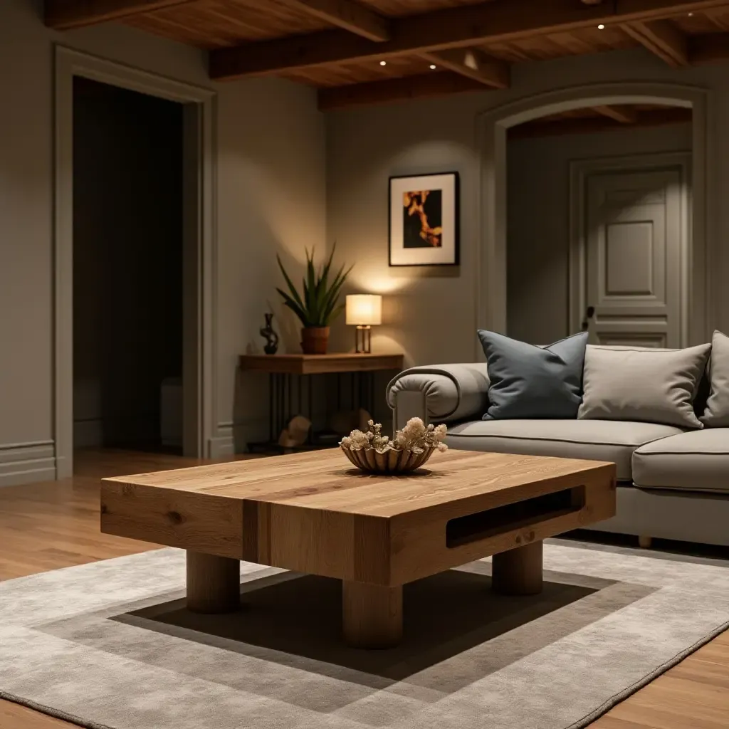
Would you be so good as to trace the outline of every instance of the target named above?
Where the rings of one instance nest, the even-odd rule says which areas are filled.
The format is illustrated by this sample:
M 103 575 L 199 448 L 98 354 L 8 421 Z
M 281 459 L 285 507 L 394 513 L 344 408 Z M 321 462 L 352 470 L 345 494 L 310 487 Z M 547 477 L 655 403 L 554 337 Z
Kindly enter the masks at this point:
M 537 347 L 478 331 L 488 369 L 484 420 L 577 418 L 588 332 Z

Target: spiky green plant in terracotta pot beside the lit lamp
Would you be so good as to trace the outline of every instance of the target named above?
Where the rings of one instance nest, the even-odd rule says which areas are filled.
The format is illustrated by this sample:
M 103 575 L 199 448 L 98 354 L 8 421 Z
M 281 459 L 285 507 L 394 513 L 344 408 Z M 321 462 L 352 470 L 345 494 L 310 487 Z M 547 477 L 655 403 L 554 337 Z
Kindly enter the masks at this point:
M 339 293 L 352 270 L 350 266 L 344 270 L 344 266 L 338 273 L 330 278 L 332 259 L 336 246 L 332 248 L 332 254 L 327 262 L 317 270 L 314 268 L 314 251 L 309 254 L 306 250 L 306 276 L 303 280 L 303 292 L 301 295 L 296 290 L 289 274 L 286 273 L 281 257 L 276 255 L 278 268 L 284 274 L 286 285 L 289 291 L 276 289 L 284 299 L 284 305 L 288 306 L 300 319 L 303 328 L 301 330 L 301 348 L 304 354 L 327 354 L 329 343 L 330 323 L 342 313 L 344 304 L 339 304 Z

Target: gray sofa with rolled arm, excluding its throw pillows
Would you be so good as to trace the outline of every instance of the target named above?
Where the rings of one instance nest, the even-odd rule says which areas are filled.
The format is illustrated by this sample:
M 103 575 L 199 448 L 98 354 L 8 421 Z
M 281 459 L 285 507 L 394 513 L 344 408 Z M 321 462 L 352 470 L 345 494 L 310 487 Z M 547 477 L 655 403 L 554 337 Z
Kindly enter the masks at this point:
M 725 351 L 714 350 L 716 364 Z M 395 427 L 419 416 L 448 424 L 451 448 L 613 461 L 617 515 L 591 528 L 634 534 L 643 545 L 662 537 L 729 546 L 729 423 L 684 429 L 615 419 L 483 420 L 488 386 L 485 363 L 405 370 L 387 392 Z M 697 396 L 697 414 L 705 407 Z

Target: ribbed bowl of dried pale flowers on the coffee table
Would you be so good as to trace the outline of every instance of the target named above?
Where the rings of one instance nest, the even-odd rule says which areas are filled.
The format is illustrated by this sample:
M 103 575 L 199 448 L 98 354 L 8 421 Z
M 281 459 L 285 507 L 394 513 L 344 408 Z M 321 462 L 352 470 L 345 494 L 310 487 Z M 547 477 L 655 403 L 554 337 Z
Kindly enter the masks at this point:
M 347 458 L 362 471 L 406 473 L 423 466 L 434 451 L 448 450 L 443 443 L 445 425 L 426 426 L 420 418 L 410 418 L 392 440 L 382 434 L 381 424 L 370 420 L 367 426 L 367 431 L 353 430 L 339 444 Z

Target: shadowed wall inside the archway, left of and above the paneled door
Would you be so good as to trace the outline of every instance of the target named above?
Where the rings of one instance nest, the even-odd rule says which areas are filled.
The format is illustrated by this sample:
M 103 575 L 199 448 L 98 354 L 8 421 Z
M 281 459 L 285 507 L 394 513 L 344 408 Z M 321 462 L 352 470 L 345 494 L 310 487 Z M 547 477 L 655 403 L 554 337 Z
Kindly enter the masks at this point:
M 691 125 L 512 141 L 507 147 L 507 333 L 554 342 L 569 333 L 572 160 L 687 151 Z

